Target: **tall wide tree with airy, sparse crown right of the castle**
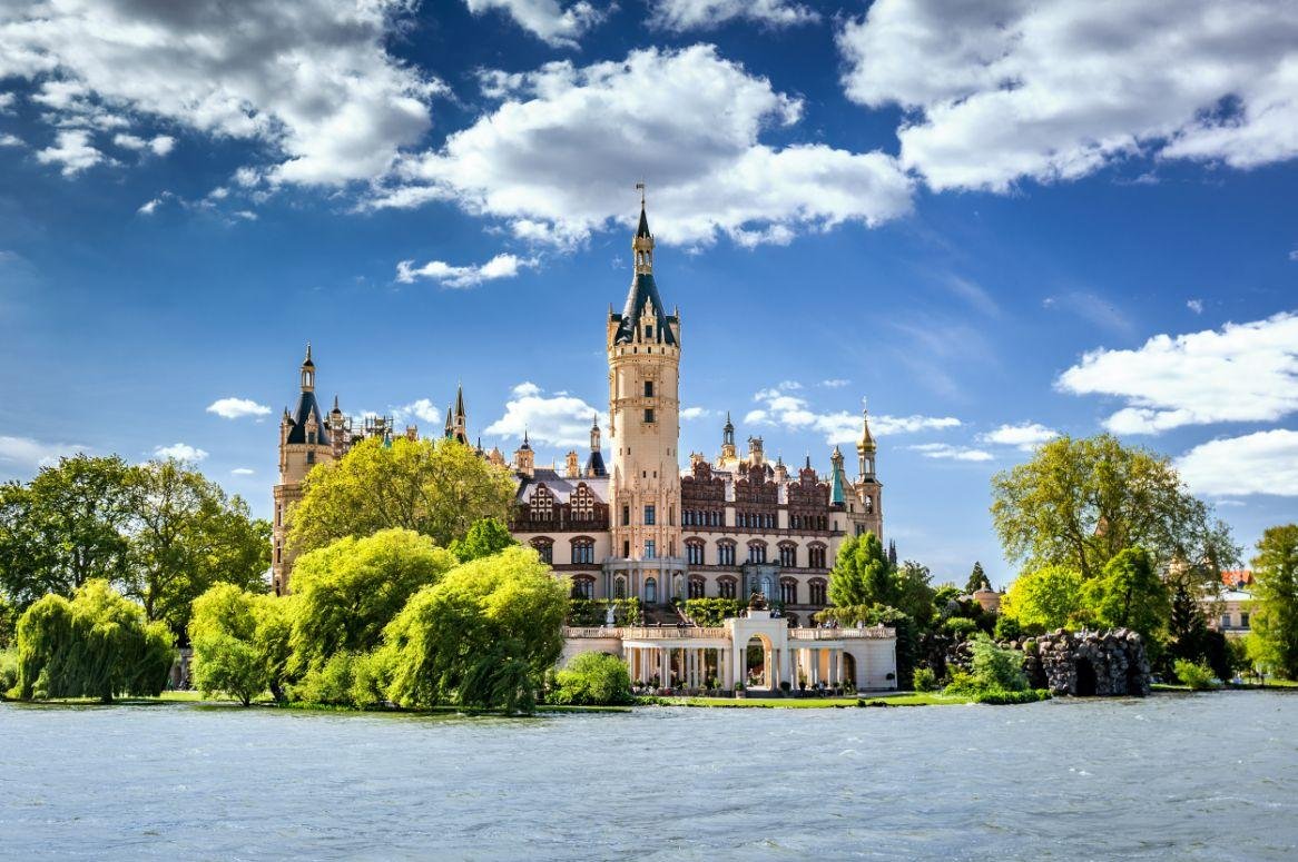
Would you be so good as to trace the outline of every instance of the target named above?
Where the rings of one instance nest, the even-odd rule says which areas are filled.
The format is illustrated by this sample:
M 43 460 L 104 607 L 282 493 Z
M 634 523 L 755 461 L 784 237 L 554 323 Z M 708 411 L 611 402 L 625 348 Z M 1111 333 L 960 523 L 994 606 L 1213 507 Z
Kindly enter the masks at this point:
M 992 496 L 1006 556 L 1027 569 L 1063 565 L 1089 579 L 1140 546 L 1155 570 L 1181 557 L 1219 577 L 1238 557 L 1229 529 L 1185 490 L 1169 459 L 1111 434 L 1050 441 L 997 473 Z

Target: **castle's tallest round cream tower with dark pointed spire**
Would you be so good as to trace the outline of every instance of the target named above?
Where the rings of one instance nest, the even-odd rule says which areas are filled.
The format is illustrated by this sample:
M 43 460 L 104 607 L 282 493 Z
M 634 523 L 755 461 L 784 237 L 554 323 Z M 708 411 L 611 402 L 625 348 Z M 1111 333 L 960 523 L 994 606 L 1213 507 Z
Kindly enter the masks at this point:
M 609 309 L 609 515 L 613 556 L 646 601 L 683 588 L 680 547 L 680 316 L 667 314 L 653 277 L 653 235 L 640 198 L 631 242 L 635 276 L 622 314 Z M 652 578 L 652 582 L 650 582 Z

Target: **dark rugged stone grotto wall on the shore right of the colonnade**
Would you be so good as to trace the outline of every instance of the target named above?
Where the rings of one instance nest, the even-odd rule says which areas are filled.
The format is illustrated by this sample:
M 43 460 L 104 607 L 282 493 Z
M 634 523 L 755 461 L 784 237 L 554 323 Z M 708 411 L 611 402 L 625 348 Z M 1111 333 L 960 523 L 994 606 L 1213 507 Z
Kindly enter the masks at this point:
M 1149 693 L 1145 642 L 1128 629 L 1064 631 L 1018 642 L 1027 653 L 1024 670 L 1033 688 L 1051 695 L 1136 696 Z

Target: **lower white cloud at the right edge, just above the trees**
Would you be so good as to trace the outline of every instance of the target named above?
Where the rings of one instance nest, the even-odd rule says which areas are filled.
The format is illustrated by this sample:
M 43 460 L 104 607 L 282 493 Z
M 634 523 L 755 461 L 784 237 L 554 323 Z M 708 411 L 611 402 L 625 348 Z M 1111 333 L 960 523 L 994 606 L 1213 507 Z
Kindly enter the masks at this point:
M 1197 494 L 1298 496 L 1298 432 L 1276 429 L 1214 439 L 1176 461 Z

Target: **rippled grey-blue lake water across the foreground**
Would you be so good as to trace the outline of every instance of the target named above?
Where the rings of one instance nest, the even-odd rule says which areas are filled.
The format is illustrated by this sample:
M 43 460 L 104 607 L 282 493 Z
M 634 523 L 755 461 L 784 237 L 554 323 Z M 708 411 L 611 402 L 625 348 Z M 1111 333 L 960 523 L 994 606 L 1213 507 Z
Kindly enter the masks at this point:
M 1298 695 L 527 721 L 0 704 L 25 859 L 1298 857 Z

